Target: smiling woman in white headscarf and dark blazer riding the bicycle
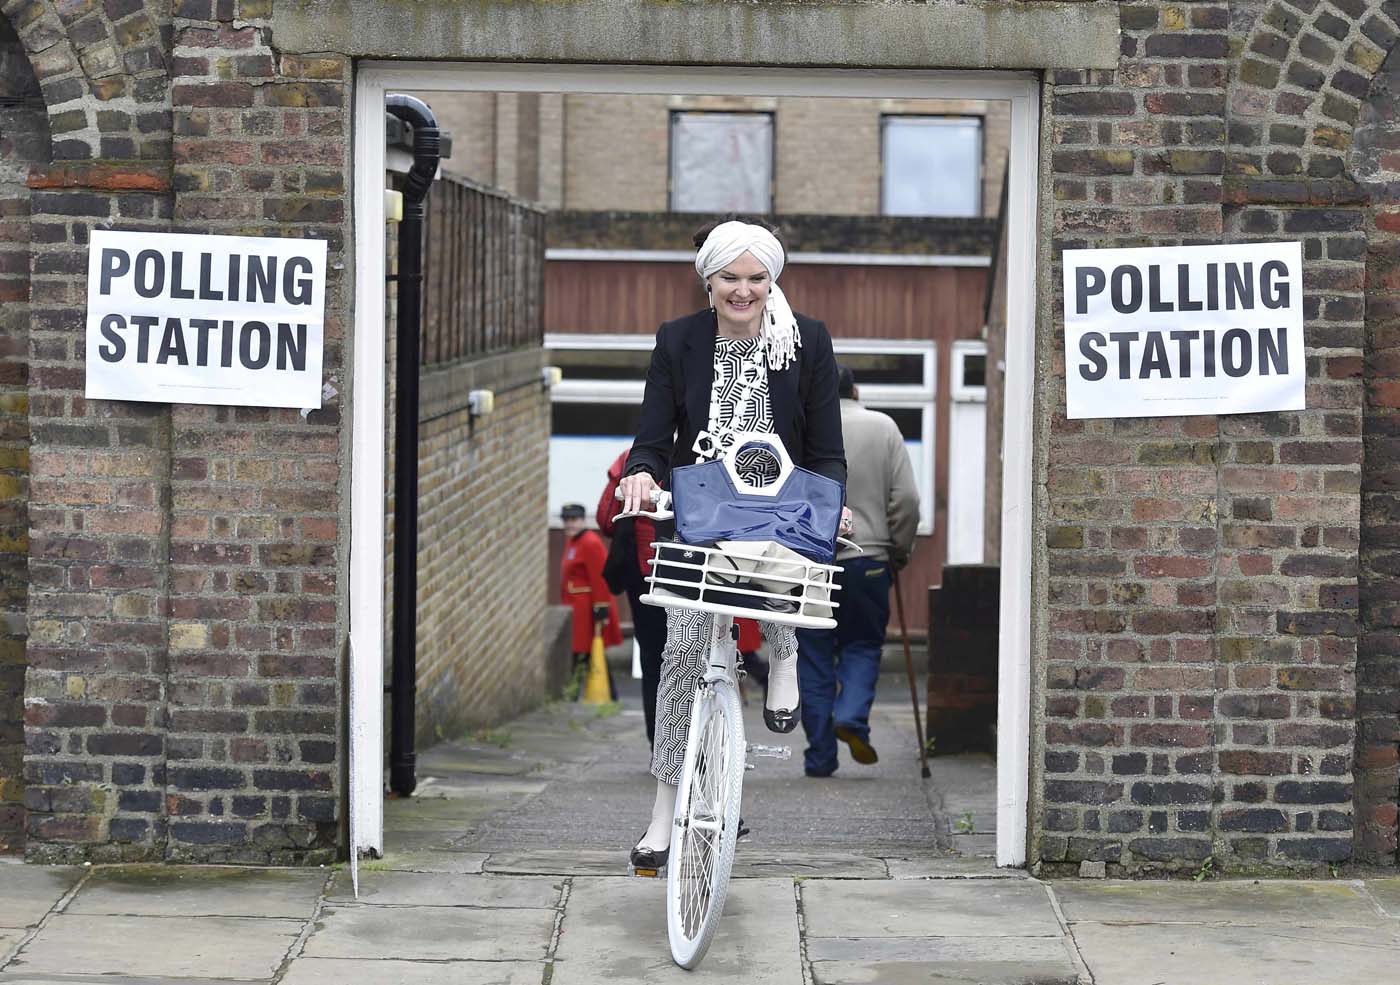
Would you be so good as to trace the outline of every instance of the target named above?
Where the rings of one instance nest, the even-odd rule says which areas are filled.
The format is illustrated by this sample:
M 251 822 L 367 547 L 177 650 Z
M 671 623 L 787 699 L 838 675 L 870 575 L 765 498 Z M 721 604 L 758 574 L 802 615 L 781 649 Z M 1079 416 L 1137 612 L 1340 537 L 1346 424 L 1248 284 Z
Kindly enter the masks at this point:
M 776 231 L 731 218 L 700 229 L 694 243 L 710 308 L 657 332 L 637 439 L 617 484 L 623 511 L 648 509 L 671 469 L 724 455 L 742 432 L 773 434 L 794 465 L 844 483 L 832 337 L 822 322 L 794 313 L 777 285 L 787 253 Z M 746 479 L 762 486 L 764 477 Z M 848 513 L 843 509 L 843 526 Z M 657 800 L 647 832 L 631 849 L 638 869 L 659 869 L 669 855 L 690 704 L 713 618 L 666 609 L 651 754 Z M 773 732 L 791 732 L 799 716 L 797 635 L 774 623 L 760 628 L 773 653 L 763 721 Z

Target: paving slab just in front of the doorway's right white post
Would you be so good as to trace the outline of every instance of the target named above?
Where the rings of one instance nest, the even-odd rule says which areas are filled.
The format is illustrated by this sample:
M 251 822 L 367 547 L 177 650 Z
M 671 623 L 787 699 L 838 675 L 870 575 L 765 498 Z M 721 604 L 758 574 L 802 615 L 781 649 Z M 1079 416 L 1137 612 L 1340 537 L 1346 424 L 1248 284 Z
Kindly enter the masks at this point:
M 885 880 L 801 884 L 812 937 L 1058 937 L 1060 922 L 1033 880 Z

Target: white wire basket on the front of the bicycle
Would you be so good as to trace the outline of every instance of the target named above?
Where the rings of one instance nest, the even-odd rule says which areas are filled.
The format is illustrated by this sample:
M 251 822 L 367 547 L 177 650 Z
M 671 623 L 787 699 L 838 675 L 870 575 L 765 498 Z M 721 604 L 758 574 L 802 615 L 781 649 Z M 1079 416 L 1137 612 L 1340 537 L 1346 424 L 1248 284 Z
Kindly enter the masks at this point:
M 764 553 L 763 543 L 721 541 L 696 547 L 675 540 L 651 544 L 651 590 L 641 602 L 668 609 L 693 609 L 757 618 L 808 630 L 836 625 L 832 595 L 840 589 L 840 567 L 785 551 Z

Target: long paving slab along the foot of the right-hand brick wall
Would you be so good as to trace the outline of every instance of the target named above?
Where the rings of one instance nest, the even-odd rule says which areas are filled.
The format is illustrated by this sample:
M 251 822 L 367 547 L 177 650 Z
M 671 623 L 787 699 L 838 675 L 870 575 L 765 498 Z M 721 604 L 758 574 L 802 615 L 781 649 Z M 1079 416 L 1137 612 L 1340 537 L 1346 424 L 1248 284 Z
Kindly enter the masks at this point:
M 1379 928 L 1359 883 L 1341 880 L 1057 881 L 1071 923 L 1228 923 Z

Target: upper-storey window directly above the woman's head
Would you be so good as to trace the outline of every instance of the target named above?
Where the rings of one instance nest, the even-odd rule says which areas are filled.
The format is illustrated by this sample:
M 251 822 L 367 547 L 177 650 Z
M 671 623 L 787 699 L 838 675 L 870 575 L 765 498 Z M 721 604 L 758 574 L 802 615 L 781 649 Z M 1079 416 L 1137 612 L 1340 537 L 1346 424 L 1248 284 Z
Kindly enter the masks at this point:
M 767 213 L 771 113 L 671 113 L 671 210 Z

